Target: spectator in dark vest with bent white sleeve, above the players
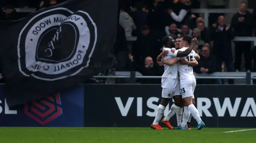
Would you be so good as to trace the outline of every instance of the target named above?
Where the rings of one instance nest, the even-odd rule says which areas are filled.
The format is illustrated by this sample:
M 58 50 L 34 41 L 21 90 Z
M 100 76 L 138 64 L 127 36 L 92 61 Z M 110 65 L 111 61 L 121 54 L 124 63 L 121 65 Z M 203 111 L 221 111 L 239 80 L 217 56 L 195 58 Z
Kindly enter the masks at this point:
M 176 23 L 178 28 L 181 28 L 182 24 L 188 23 L 191 14 L 191 2 L 190 0 L 173 1 L 172 9 L 168 9 L 171 19 Z

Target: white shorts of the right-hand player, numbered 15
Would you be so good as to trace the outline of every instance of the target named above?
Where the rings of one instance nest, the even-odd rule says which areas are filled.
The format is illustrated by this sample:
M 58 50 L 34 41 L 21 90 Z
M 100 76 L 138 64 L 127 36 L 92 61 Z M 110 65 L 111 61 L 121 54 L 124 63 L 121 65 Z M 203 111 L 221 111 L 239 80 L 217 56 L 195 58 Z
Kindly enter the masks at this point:
M 196 78 L 185 78 L 180 80 L 180 91 L 182 98 L 192 96 L 194 98 L 194 91 L 196 88 Z

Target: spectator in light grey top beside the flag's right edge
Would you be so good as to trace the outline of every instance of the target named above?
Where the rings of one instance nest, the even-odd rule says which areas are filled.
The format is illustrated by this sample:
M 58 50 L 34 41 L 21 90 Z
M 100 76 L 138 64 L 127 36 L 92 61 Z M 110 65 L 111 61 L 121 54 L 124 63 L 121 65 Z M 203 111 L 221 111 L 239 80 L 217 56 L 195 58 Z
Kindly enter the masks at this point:
M 124 28 L 126 37 L 132 36 L 132 31 L 136 29 L 132 17 L 124 11 L 124 8 L 120 10 L 119 24 Z

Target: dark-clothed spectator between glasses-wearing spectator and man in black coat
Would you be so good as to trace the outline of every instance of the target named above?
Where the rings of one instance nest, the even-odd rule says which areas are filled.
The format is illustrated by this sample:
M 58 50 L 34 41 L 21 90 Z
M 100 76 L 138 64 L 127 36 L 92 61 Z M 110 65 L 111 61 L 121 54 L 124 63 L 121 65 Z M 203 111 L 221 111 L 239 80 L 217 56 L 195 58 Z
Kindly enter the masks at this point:
M 205 42 L 205 45 L 210 46 L 210 29 L 205 27 L 204 22 L 197 22 L 196 28 L 201 32 L 201 39 Z

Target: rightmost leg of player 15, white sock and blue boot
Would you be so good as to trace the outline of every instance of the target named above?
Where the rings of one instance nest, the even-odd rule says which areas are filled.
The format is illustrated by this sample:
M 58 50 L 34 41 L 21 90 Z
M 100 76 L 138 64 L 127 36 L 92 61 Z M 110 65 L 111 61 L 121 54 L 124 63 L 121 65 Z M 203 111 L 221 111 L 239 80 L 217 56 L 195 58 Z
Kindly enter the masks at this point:
M 205 127 L 204 122 L 202 121 L 198 110 L 196 109 L 196 107 L 194 106 L 193 102 L 192 102 L 192 96 L 194 94 L 194 89 L 196 88 L 196 79 L 192 78 L 192 86 L 191 86 L 191 90 L 188 90 L 190 93 L 190 97 L 185 100 L 186 104 L 188 105 L 188 110 L 190 111 L 190 113 L 192 114 L 193 118 L 196 119 L 198 126 L 197 126 L 197 130 L 202 129 L 203 127 Z

